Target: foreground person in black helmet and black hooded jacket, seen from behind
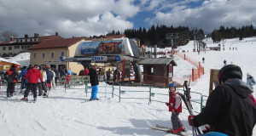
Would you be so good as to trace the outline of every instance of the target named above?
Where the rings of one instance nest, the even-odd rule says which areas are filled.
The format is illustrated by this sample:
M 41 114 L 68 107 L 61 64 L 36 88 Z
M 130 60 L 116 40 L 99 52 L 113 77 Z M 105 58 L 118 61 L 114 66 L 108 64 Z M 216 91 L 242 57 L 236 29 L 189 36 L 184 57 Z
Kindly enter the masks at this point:
M 209 95 L 201 113 L 188 117 L 189 125 L 200 127 L 209 124 L 211 132 L 251 136 L 256 122 L 256 107 L 249 97 L 251 88 L 241 78 L 239 66 L 224 65 L 218 71 L 220 85 Z

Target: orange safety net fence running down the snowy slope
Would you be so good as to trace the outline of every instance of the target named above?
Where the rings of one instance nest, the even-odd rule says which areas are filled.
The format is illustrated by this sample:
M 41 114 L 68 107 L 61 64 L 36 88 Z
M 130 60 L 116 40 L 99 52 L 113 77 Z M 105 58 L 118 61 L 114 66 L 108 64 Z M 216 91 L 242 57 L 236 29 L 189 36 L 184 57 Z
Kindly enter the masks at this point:
M 201 62 L 195 61 L 195 59 L 191 59 L 186 56 L 186 54 L 181 54 L 177 51 L 174 51 L 173 53 L 178 57 L 187 60 L 191 65 L 195 66 L 195 68 L 192 69 L 192 82 L 195 82 L 198 78 L 205 74 L 204 67 L 201 66 Z

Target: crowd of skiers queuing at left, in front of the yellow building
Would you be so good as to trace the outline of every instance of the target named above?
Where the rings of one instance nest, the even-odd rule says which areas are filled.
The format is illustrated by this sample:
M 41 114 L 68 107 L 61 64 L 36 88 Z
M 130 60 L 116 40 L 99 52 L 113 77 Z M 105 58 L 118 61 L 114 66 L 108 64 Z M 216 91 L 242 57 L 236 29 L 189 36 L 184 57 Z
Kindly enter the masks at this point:
M 21 100 L 27 100 L 27 96 L 30 92 L 32 92 L 34 100 L 37 100 L 37 96 L 48 96 L 48 91 L 52 87 L 56 89 L 55 86 L 59 81 L 59 77 L 61 77 L 61 79 L 67 79 L 68 82 L 71 80 L 71 78 L 69 78 L 70 76 L 67 74 L 66 66 L 62 66 L 60 74 L 55 66 L 29 65 L 28 68 L 23 66 L 20 75 L 16 71 L 16 67 L 17 65 L 12 65 L 11 68 L 4 73 L 4 79 L 8 82 L 8 98 L 14 95 L 16 82 L 20 80 L 20 94 L 24 93 L 24 98 Z

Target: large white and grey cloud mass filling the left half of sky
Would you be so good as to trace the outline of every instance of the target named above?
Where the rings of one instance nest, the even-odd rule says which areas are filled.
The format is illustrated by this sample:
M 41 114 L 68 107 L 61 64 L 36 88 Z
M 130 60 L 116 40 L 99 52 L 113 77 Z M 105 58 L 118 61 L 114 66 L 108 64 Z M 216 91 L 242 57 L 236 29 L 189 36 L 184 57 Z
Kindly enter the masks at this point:
M 127 18 L 139 10 L 133 0 L 0 1 L 0 31 L 17 32 L 19 37 L 55 31 L 61 37 L 89 37 L 132 28 Z

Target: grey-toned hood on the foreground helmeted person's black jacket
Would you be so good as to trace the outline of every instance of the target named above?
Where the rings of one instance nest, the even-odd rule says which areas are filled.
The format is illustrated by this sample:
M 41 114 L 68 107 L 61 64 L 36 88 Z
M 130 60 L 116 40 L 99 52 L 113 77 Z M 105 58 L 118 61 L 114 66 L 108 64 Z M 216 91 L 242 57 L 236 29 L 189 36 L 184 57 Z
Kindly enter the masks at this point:
M 231 79 L 224 82 L 226 85 L 231 85 L 236 94 L 238 94 L 241 98 L 245 99 L 249 96 L 249 94 L 253 93 L 252 88 L 247 85 L 246 82 L 242 82 L 240 79 Z

